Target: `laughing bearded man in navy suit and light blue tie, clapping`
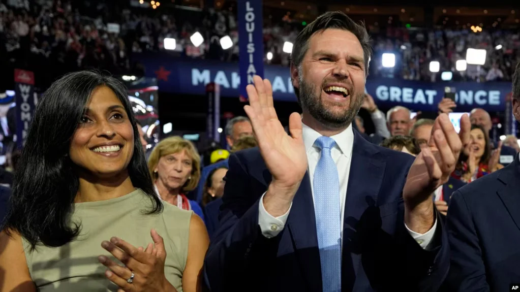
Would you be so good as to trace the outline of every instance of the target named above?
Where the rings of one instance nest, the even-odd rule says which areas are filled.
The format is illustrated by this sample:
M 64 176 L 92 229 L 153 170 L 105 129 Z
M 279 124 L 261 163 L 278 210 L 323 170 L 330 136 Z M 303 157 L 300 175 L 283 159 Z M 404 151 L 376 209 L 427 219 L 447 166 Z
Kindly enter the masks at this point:
M 229 158 L 205 260 L 212 291 L 435 291 L 444 280 L 449 246 L 432 193 L 469 140 L 469 117 L 461 139 L 439 116 L 435 139 L 415 160 L 363 139 L 352 122 L 369 42 L 342 12 L 298 34 L 291 76 L 303 114 L 290 116 L 291 136 L 269 81 L 255 76 L 248 85 L 244 110 L 259 148 Z

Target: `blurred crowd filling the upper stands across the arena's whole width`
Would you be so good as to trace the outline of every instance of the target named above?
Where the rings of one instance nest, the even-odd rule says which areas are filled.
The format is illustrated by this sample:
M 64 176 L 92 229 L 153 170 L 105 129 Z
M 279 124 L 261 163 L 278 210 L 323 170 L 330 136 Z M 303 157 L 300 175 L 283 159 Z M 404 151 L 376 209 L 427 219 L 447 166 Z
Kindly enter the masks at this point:
M 266 63 L 289 65 L 284 42 L 293 42 L 303 28 L 300 22 L 269 18 L 264 28 Z M 232 9 L 202 11 L 182 8 L 146 9 L 111 1 L 91 5 L 86 1 L 3 0 L 0 1 L 0 67 L 5 80 L 13 68 L 36 71 L 37 87 L 47 87 L 64 73 L 99 68 L 112 74 L 141 75 L 144 69 L 132 54 L 164 49 L 165 37 L 176 39 L 173 55 L 238 61 L 238 31 Z M 200 32 L 204 42 L 190 41 Z M 421 30 L 370 26 L 374 58 L 370 75 L 421 81 L 438 81 L 430 61 L 440 62 L 440 72 L 452 71 L 455 81 L 510 81 L 520 57 L 518 32 L 484 30 Z M 233 46 L 223 50 L 219 39 L 229 35 Z M 456 70 L 467 48 L 487 50 L 486 64 Z M 497 49 L 499 48 L 499 49 Z M 271 52 L 272 54 L 267 54 Z M 383 68 L 381 55 L 396 55 L 394 68 Z M 267 59 L 269 55 L 269 59 Z M 43 72 L 41 72 L 43 71 Z M 38 74 L 42 73 L 42 74 Z M 5 76 L 4 76 L 5 75 Z M 6 84 L 0 84 L 6 87 Z

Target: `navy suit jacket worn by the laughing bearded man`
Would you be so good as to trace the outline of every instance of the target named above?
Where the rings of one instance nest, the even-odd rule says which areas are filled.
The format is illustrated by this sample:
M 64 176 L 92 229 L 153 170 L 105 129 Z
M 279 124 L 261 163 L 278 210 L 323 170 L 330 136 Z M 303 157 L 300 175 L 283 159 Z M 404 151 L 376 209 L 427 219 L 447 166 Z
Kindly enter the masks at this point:
M 355 131 L 345 200 L 342 291 L 436 291 L 448 272 L 440 220 L 436 247 L 423 250 L 404 224 L 402 188 L 413 157 L 371 144 Z M 212 291 L 322 291 L 309 176 L 273 238 L 258 225 L 271 175 L 258 148 L 229 158 L 220 227 L 205 259 Z M 432 203 L 433 204 L 433 203 Z

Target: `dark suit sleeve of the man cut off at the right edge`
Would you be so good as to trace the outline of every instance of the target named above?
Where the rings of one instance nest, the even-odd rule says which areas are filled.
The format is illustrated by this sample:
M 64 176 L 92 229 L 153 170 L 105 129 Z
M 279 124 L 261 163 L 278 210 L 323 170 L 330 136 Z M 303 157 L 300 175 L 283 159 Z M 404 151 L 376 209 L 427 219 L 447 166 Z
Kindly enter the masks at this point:
M 446 219 L 451 249 L 446 281 L 452 291 L 489 291 L 482 250 L 469 208 L 460 191 L 453 193 Z

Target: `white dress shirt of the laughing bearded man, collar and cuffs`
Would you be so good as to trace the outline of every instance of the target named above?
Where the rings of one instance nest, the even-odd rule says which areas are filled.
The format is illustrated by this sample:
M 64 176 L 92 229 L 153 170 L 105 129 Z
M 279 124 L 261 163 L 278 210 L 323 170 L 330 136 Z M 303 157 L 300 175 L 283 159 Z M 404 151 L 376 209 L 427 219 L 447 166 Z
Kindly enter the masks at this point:
M 322 135 L 305 124 L 303 124 L 302 135 L 303 142 L 305 144 L 305 150 L 307 153 L 307 171 L 309 174 L 310 189 L 314 202 L 314 170 L 316 169 L 316 165 L 318 164 L 320 158 L 320 150 L 317 147 L 314 147 L 314 142 L 316 141 L 316 139 L 318 139 L 318 137 Z M 332 159 L 336 163 L 337 174 L 340 178 L 341 222 L 344 222 L 343 217 L 345 213 L 345 198 L 347 196 L 348 175 L 350 172 L 350 162 L 352 162 L 352 149 L 354 145 L 354 131 L 352 130 L 352 125 L 348 126 L 348 128 L 340 134 L 334 135 L 331 138 L 334 139 L 334 141 L 336 141 L 334 148 L 331 149 L 331 155 Z M 275 237 L 276 235 L 278 235 L 278 233 L 280 233 L 283 230 L 285 222 L 287 222 L 287 218 L 289 217 L 289 212 L 291 211 L 292 204 L 291 207 L 289 207 L 287 213 L 283 214 L 280 217 L 273 217 L 269 213 L 267 213 L 264 207 L 264 195 L 262 195 L 262 197 L 260 198 L 260 204 L 258 204 L 258 225 L 260 225 L 262 234 L 267 238 L 271 238 Z M 432 229 L 428 230 L 424 234 L 414 232 L 410 230 L 406 225 L 405 227 L 407 228 L 410 235 L 412 235 L 415 241 L 417 241 L 422 248 L 427 248 L 428 244 L 432 242 L 433 235 L 435 234 L 437 220 L 435 220 Z M 343 242 L 343 228 L 341 230 L 341 237 Z

